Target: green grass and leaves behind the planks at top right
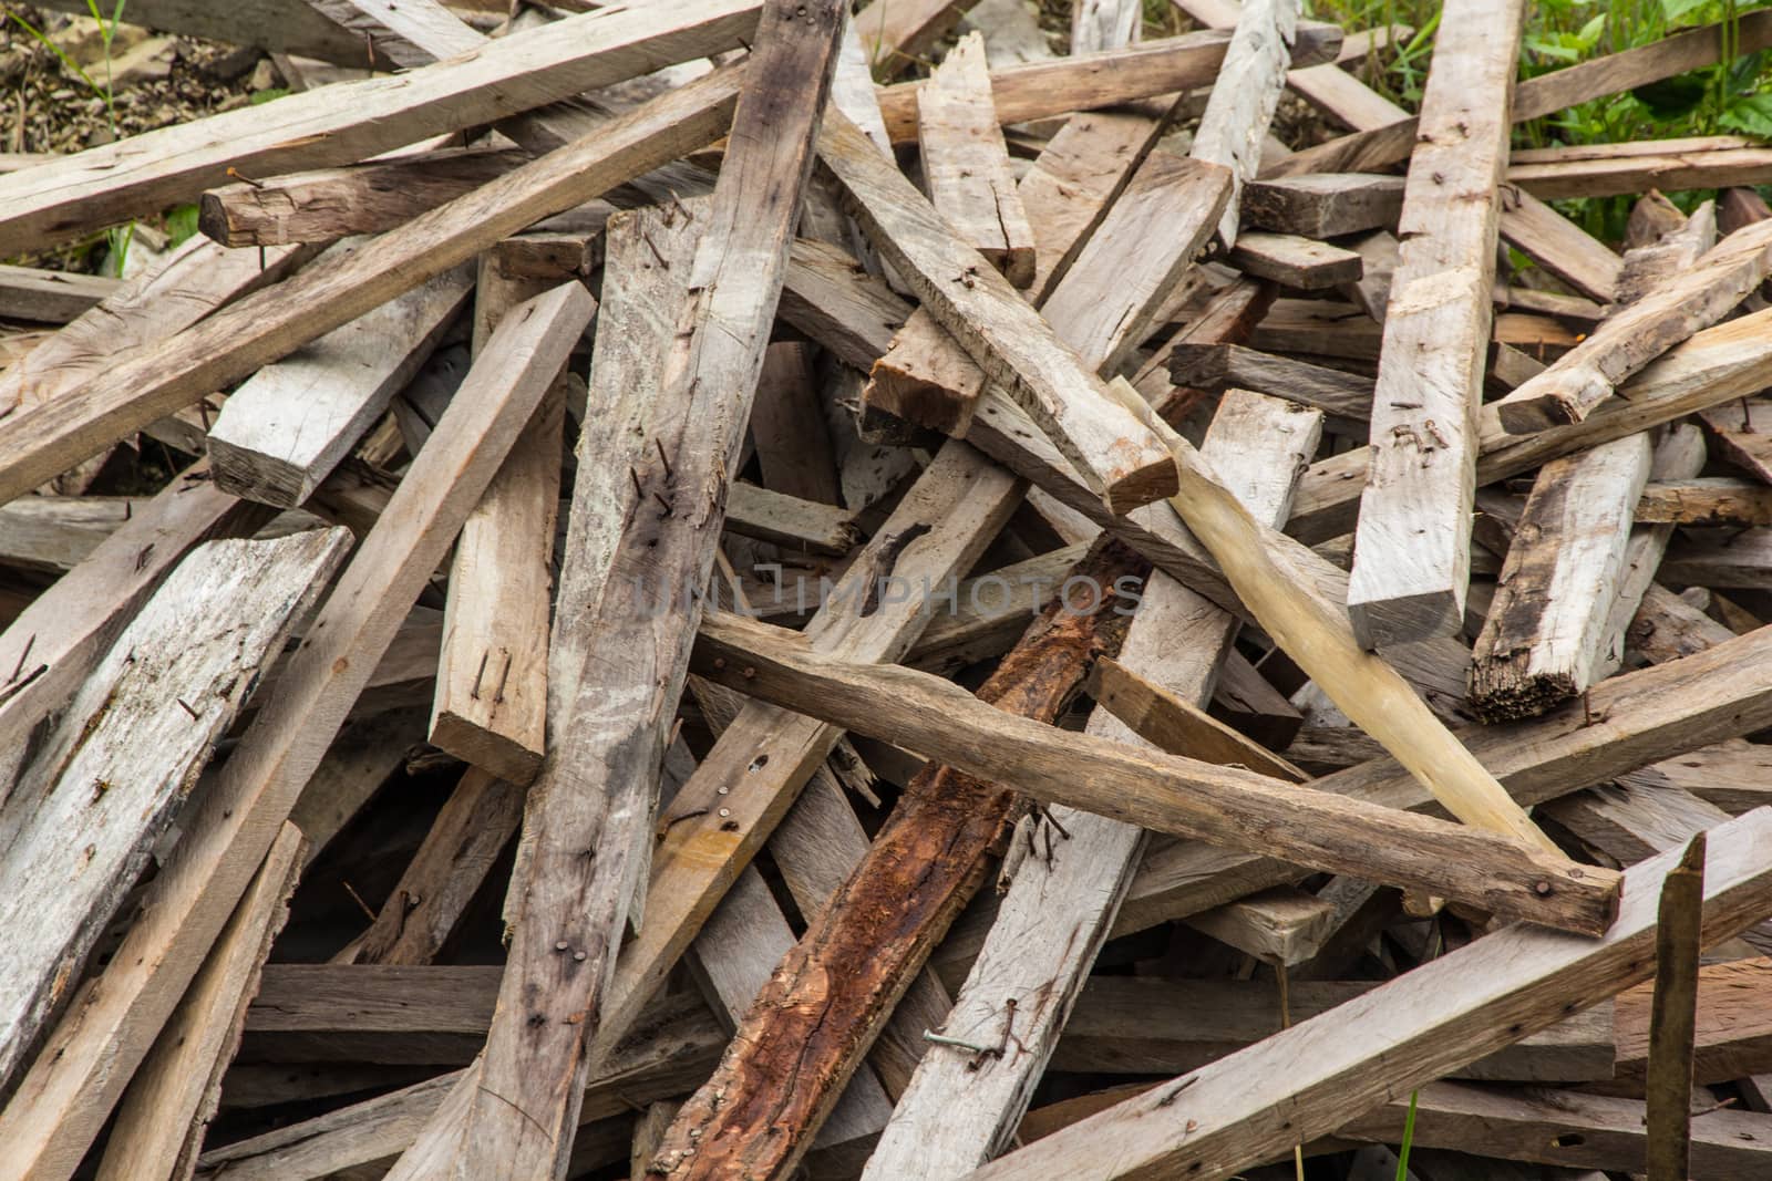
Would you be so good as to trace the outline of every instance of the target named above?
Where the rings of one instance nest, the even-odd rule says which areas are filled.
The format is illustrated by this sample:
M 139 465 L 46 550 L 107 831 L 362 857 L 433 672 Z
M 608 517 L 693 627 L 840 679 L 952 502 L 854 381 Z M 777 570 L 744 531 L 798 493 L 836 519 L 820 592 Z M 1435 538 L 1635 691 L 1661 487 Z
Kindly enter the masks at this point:
M 1315 19 L 1347 30 L 1403 25 L 1414 32 L 1361 67 L 1361 78 L 1391 101 L 1416 110 L 1434 53 L 1437 0 L 1302 0 Z M 1533 0 L 1527 4 L 1520 78 L 1586 62 L 1607 53 L 1653 44 L 1698 25 L 1733 27 L 1745 12 L 1772 0 Z M 1722 66 L 1698 69 L 1637 90 L 1582 103 L 1513 129 L 1513 145 L 1579 147 L 1703 135 L 1772 138 L 1772 53 L 1729 55 Z M 1710 193 L 1669 195 L 1692 209 Z M 1595 237 L 1618 241 L 1630 197 L 1566 200 L 1556 205 Z

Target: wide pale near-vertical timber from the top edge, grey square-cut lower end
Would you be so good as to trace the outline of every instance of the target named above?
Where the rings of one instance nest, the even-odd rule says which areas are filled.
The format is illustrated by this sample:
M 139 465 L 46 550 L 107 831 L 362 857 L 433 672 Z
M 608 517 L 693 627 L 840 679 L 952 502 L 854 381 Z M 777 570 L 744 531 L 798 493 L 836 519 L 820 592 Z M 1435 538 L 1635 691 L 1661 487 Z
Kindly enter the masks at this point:
M 1522 21 L 1520 0 L 1451 0 L 1435 39 L 1398 223 L 1402 255 L 1384 315 L 1372 469 L 1348 579 L 1348 616 L 1368 648 L 1464 625 L 1496 186 Z

